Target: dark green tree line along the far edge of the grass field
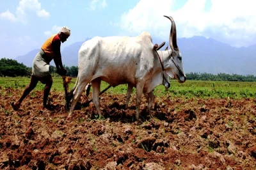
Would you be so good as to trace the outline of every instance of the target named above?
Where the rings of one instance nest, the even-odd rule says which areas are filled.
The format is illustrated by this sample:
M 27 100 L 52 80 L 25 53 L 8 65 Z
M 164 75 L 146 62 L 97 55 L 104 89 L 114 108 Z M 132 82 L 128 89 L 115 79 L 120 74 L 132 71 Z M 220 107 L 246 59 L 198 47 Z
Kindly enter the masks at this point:
M 64 66 L 67 69 L 67 76 L 77 77 L 78 67 L 77 66 Z M 22 63 L 17 62 L 15 59 L 0 59 L 0 76 L 1 77 L 17 77 L 17 76 L 30 76 L 31 67 L 25 66 Z M 56 73 L 56 67 L 50 65 L 50 72 L 53 77 L 58 77 Z M 201 80 L 201 81 L 246 81 L 256 82 L 254 75 L 238 75 L 228 73 L 186 73 L 188 80 Z

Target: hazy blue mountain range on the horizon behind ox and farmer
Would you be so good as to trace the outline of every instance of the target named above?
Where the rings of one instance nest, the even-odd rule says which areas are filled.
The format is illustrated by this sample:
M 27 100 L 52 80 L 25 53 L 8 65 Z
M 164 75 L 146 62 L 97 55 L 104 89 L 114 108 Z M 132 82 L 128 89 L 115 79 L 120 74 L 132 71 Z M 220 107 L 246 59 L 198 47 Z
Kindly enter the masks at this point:
M 89 40 L 87 38 L 86 40 Z M 153 43 L 162 43 L 160 38 L 153 37 Z M 227 43 L 218 42 L 204 36 L 193 36 L 192 38 L 178 38 L 177 40 L 184 70 L 188 72 L 207 73 L 237 73 L 256 75 L 256 45 L 250 47 L 231 47 Z M 78 50 L 83 42 L 76 42 L 61 51 L 63 64 L 66 66 L 77 66 Z M 164 50 L 166 44 L 161 50 Z M 170 49 L 170 47 L 169 47 Z M 24 56 L 19 56 L 17 61 L 31 66 L 33 58 L 38 49 L 32 50 Z M 51 65 L 54 65 L 52 61 Z

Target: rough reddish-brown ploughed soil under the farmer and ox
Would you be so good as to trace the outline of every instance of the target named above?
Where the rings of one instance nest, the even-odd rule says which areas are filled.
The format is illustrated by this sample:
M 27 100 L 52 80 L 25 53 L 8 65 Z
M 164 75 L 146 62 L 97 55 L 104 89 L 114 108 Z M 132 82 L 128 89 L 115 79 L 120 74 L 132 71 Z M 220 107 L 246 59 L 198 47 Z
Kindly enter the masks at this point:
M 100 96 L 67 120 L 64 92 L 42 110 L 35 91 L 13 111 L 21 89 L 0 89 L 0 169 L 255 169 L 256 100 L 156 98 L 152 111 L 135 95 Z M 90 99 L 91 95 L 88 99 Z M 82 103 L 88 100 L 81 98 Z

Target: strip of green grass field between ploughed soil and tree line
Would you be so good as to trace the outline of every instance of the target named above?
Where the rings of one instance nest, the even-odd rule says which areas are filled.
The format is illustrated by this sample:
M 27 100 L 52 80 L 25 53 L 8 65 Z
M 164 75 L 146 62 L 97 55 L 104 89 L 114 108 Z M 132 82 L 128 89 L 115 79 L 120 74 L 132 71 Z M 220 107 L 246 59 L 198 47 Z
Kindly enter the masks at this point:
M 24 89 L 29 83 L 28 77 L 0 77 L 1 88 L 18 88 Z M 72 79 L 69 84 L 69 90 L 74 86 L 76 78 Z M 106 82 L 102 82 L 101 89 L 108 86 Z M 38 82 L 36 90 L 44 89 L 44 84 Z M 52 91 L 63 91 L 61 77 L 54 77 Z M 106 93 L 126 94 L 127 85 L 116 86 L 110 88 Z M 135 90 L 133 90 L 134 93 Z M 180 84 L 176 80 L 171 80 L 171 87 L 165 89 L 160 85 L 154 89 L 156 96 L 170 97 L 202 97 L 202 98 L 254 98 L 256 97 L 256 82 L 225 82 L 225 81 L 186 81 Z

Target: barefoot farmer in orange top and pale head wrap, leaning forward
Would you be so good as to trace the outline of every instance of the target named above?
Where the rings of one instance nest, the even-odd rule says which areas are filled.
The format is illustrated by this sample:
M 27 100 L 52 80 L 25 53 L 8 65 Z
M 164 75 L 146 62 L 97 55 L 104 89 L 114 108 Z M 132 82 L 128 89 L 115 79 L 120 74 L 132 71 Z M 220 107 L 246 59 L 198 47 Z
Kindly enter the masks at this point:
M 49 64 L 53 59 L 57 68 L 57 73 L 60 75 L 66 75 L 67 70 L 63 68 L 61 61 L 60 45 L 61 42 L 63 43 L 67 41 L 68 36 L 70 36 L 70 29 L 68 29 L 68 27 L 62 27 L 58 34 L 52 35 L 42 45 L 41 49 L 33 60 L 30 83 L 24 89 L 19 100 L 15 103 L 11 103 L 12 108 L 15 111 L 19 109 L 24 98 L 26 98 L 28 94 L 36 87 L 38 81 L 45 84 L 43 109 L 51 108 L 51 106 L 47 105 L 47 99 L 52 87 L 52 76 L 49 70 Z

